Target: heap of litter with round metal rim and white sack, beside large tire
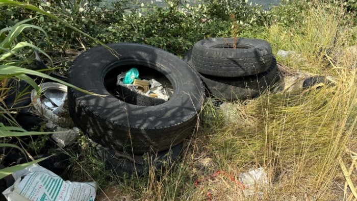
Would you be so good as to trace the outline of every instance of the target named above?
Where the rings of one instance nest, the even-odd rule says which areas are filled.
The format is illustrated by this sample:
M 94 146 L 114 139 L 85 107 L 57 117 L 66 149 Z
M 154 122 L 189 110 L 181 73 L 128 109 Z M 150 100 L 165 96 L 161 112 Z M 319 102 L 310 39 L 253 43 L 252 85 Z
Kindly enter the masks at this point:
M 16 115 L 16 120 L 28 127 L 28 130 L 42 129 L 44 131 L 53 131 L 50 135 L 52 140 L 46 141 L 48 150 L 39 150 L 40 153 L 32 154 L 33 159 L 47 159 L 39 162 L 39 165 L 33 164 L 23 170 L 13 174 L 13 178 L 6 179 L 6 185 L 1 186 L 5 190 L 3 194 L 8 200 L 94 200 L 96 184 L 77 183 L 64 181 L 58 174 L 62 175 L 70 165 L 69 155 L 67 153 L 78 150 L 73 146 L 80 137 L 80 130 L 73 126 L 73 121 L 69 117 L 67 107 L 67 87 L 65 85 L 44 82 L 38 85 L 39 91 L 32 89 L 30 95 L 25 96 L 22 102 L 17 103 L 16 96 L 21 92 L 21 88 L 31 90 L 27 83 L 20 82 L 10 87 L 16 92 L 10 93 L 6 103 L 8 106 L 18 107 L 21 104 L 30 105 L 27 110 L 20 110 Z M 23 91 L 22 91 L 23 92 Z M 27 140 L 37 140 L 38 136 L 33 138 L 23 138 Z M 57 147 L 57 148 L 55 148 Z M 27 163 L 31 159 L 20 152 L 18 149 L 3 148 L 5 157 L 2 164 L 6 166 Z M 3 167 L 4 168 L 4 167 Z M 40 173 L 39 173 L 40 172 Z

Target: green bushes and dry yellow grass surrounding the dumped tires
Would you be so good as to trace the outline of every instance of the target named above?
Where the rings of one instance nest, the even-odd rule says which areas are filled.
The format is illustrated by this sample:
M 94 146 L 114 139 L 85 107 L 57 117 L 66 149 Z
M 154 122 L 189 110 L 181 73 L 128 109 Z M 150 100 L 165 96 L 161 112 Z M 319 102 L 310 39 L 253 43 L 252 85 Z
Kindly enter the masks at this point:
M 82 136 L 81 153 L 68 153 L 69 180 L 96 181 L 99 200 L 202 200 L 208 192 L 215 200 L 353 198 L 349 186 L 357 184 L 355 1 L 282 1 L 269 11 L 235 0 L 164 1 L 163 7 L 133 2 L 30 1 L 67 26 L 27 8 L 0 4 L 0 134 L 8 143 L 0 146 L 31 155 L 34 151 L 21 136 L 48 134 L 20 128 L 13 118 L 16 109 L 4 105 L 6 83 L 24 80 L 36 86 L 24 73 L 68 73 L 75 57 L 98 44 L 70 26 L 103 43 L 144 43 L 179 57 L 205 37 L 259 38 L 271 43 L 275 55 L 279 49 L 297 54 L 277 56 L 281 83 L 256 99 L 227 104 L 230 112 L 217 109 L 216 100 L 208 98 L 197 132 L 185 140 L 181 161 L 162 173 L 149 169 L 144 177 L 119 180 L 104 169 L 95 147 Z M 35 50 L 49 67 L 44 73 L 29 70 L 36 68 Z M 284 78 L 301 73 L 326 76 L 334 85 L 294 90 L 298 81 Z M 41 140 L 37 142 L 40 146 Z M 245 197 L 240 186 L 223 175 L 195 187 L 196 179 L 218 170 L 239 178 L 259 167 L 267 172 L 269 185 L 256 189 L 252 197 Z

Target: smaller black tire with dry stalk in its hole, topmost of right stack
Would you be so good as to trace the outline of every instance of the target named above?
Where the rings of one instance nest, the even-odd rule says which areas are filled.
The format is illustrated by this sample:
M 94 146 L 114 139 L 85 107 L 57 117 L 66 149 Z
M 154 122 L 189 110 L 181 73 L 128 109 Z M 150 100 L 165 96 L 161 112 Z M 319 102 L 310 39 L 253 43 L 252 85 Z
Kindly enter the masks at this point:
M 226 47 L 228 44 L 228 48 Z M 265 40 L 238 38 L 207 38 L 192 48 L 192 62 L 198 72 L 218 77 L 251 76 L 269 69 L 272 61 L 270 44 Z

